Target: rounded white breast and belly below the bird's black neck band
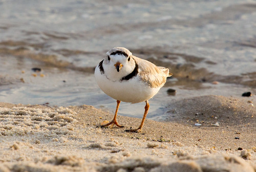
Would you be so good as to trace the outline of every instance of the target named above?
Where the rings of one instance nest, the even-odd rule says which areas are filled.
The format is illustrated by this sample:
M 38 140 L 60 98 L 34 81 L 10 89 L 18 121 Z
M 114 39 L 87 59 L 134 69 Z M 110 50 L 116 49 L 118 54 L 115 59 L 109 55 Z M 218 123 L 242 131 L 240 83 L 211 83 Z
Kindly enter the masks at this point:
M 160 90 L 159 88 L 151 88 L 140 80 L 139 76 L 129 80 L 111 81 L 101 74 L 99 67 L 95 69 L 95 78 L 100 89 L 110 97 L 131 103 L 139 103 L 152 98 Z

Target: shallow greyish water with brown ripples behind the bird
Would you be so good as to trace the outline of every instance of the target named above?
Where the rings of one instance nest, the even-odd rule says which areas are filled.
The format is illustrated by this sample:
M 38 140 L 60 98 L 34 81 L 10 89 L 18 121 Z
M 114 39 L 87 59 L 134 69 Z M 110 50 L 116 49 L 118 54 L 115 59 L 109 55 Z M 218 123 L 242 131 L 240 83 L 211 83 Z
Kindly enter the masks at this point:
M 0 11 L 2 102 L 90 104 L 114 112 L 116 101 L 93 73 L 117 46 L 174 73 L 150 100 L 148 118 L 161 120 L 183 98 L 256 93 L 255 1 L 0 0 Z M 122 104 L 121 115 L 141 118 L 143 102 Z

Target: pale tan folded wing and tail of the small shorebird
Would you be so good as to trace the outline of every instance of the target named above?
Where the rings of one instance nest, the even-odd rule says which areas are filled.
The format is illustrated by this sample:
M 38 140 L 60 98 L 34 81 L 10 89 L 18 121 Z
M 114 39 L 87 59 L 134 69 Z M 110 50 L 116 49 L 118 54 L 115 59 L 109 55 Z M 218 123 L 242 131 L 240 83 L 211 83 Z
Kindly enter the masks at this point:
M 169 69 L 157 67 L 152 62 L 133 56 L 139 66 L 141 79 L 150 85 L 151 88 L 163 87 L 166 77 L 171 76 Z

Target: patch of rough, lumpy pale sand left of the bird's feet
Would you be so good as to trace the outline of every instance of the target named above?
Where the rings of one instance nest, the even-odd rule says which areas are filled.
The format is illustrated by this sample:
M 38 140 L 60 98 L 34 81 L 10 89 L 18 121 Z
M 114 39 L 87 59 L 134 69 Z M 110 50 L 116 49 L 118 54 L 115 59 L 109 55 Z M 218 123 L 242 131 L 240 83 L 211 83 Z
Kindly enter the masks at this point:
M 67 135 L 72 134 L 71 123 L 76 112 L 65 107 L 56 110 L 30 107 L 0 107 L 0 135 Z

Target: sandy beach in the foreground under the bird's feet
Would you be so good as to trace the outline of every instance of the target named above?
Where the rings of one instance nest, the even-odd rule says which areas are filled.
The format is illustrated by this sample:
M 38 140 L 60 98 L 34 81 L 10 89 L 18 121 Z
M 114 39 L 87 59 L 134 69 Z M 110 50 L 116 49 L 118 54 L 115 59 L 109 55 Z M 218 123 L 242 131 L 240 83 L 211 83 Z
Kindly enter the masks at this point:
M 141 119 L 118 116 L 125 128 L 101 128 L 113 114 L 93 106 L 0 103 L 0 171 L 256 171 L 253 104 L 184 99 L 166 121 L 146 119 L 140 133 L 126 133 Z

